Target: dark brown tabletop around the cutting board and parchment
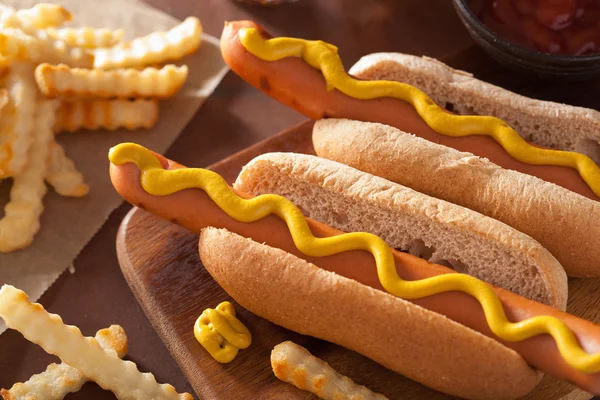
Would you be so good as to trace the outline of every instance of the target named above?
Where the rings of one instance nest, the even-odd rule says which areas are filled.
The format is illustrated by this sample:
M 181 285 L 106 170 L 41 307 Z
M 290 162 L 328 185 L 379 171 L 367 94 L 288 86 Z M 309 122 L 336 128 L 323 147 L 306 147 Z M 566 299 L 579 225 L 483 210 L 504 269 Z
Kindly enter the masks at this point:
M 205 31 L 219 36 L 223 21 L 252 19 L 274 35 L 323 39 L 337 44 L 346 66 L 377 51 L 426 54 L 481 78 L 540 98 L 600 108 L 594 93 L 600 79 L 586 84 L 547 85 L 505 71 L 490 61 L 468 37 L 450 0 L 300 0 L 275 8 L 239 5 L 230 0 L 150 0 L 183 19 L 195 15 Z M 230 73 L 183 131 L 167 156 L 202 167 L 260 141 L 304 119 Z M 118 208 L 40 302 L 83 333 L 92 335 L 112 323 L 121 324 L 130 340 L 129 357 L 141 370 L 179 391 L 191 387 L 142 313 L 117 264 L 115 235 L 129 210 Z M 14 331 L 0 336 L 0 387 L 26 380 L 55 361 Z M 69 399 L 110 399 L 95 384 L 86 384 Z

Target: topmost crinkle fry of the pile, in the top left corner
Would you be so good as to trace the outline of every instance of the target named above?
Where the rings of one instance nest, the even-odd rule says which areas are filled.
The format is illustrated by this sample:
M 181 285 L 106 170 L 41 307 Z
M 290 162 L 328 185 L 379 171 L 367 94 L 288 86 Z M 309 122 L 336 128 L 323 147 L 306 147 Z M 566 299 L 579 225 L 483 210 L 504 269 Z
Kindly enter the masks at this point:
M 19 28 L 26 24 L 43 29 L 60 26 L 72 18 L 72 14 L 58 4 L 40 3 L 22 10 L 7 6 L 0 7 L 0 24 L 7 28 Z

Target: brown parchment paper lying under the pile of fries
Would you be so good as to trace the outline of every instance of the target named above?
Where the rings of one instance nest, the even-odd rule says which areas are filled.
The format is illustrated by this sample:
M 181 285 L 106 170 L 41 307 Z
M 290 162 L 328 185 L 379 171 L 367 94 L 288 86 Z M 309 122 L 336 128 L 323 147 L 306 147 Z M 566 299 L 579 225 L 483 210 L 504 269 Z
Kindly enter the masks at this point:
M 27 8 L 41 1 L 2 2 L 15 8 Z M 44 2 L 64 5 L 74 14 L 73 26 L 123 28 L 126 40 L 156 30 L 167 30 L 179 22 L 137 0 Z M 122 202 L 110 183 L 108 149 L 120 142 L 133 141 L 157 152 L 165 152 L 228 70 L 221 58 L 218 40 L 206 34 L 202 35 L 198 51 L 177 64 L 187 64 L 189 67 L 186 86 L 176 97 L 161 101 L 159 122 L 153 129 L 133 132 L 79 131 L 57 137 L 57 141 L 64 145 L 67 154 L 84 174 L 90 185 L 90 193 L 83 198 L 69 199 L 48 188 L 41 218 L 42 227 L 33 244 L 17 252 L 0 253 L 0 285 L 14 285 L 24 290 L 32 301 L 37 301 L 58 276 L 72 266 L 77 254 Z M 2 210 L 8 201 L 10 186 L 10 180 L 0 183 Z M 3 213 L 0 211 L 0 216 Z M 4 330 L 4 324 L 0 321 L 0 333 Z

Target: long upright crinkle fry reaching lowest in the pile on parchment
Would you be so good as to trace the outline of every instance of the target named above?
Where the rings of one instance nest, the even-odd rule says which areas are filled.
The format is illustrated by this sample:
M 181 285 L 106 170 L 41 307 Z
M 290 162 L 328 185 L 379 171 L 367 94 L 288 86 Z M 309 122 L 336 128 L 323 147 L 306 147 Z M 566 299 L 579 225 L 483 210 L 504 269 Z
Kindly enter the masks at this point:
M 54 138 L 55 103 L 40 99 L 35 113 L 33 141 L 27 153 L 27 165 L 15 175 L 10 190 L 10 201 L 4 207 L 0 220 L 0 252 L 27 247 L 40 229 L 40 216 L 46 195 L 46 165 L 49 144 Z

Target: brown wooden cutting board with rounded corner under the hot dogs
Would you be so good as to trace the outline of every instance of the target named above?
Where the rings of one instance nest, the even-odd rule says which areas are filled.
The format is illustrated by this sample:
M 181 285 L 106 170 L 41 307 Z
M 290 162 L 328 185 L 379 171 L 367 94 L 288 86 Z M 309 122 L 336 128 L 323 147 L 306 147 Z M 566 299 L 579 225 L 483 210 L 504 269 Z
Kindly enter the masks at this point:
M 232 183 L 244 164 L 273 151 L 314 154 L 308 121 L 249 147 L 210 168 Z M 150 322 L 203 399 L 310 399 L 311 394 L 276 379 L 271 349 L 285 340 L 305 346 L 340 373 L 391 399 L 449 399 L 340 346 L 278 327 L 237 305 L 211 278 L 198 256 L 198 236 L 133 208 L 121 224 L 117 254 L 123 275 Z M 569 311 L 600 322 L 600 280 L 569 283 Z M 252 345 L 230 364 L 219 364 L 198 344 L 192 328 L 207 307 L 229 300 L 252 332 Z M 457 368 L 460 368 L 457 365 Z M 591 396 L 544 378 L 527 399 L 579 400 Z

